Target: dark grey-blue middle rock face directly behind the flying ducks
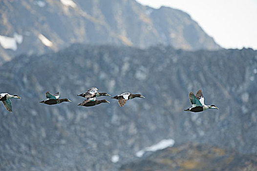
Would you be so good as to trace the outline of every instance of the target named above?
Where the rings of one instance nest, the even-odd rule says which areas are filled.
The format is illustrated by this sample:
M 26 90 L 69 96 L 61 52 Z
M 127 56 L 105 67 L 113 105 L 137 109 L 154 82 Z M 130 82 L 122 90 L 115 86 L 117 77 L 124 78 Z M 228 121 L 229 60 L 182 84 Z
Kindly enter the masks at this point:
M 74 44 L 58 53 L 19 56 L 0 67 L 1 92 L 18 94 L 13 112 L 0 106 L 0 170 L 115 171 L 162 139 L 200 142 L 257 154 L 257 51 L 196 51 L 170 46 Z M 112 96 L 145 99 L 78 107 L 77 94 L 97 86 Z M 202 89 L 201 113 L 185 112 Z M 47 106 L 45 92 L 72 103 Z M 114 160 L 115 159 L 115 160 Z M 118 160 L 118 161 L 117 161 Z M 112 161 L 116 162 L 113 163 Z

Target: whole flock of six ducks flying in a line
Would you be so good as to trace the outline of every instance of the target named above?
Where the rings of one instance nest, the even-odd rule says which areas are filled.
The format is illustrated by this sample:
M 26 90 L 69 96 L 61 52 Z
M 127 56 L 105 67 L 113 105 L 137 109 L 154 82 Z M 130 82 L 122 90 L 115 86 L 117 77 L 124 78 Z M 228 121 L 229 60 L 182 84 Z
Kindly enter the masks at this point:
M 46 96 L 47 99 L 41 101 L 40 103 L 43 103 L 43 104 L 46 104 L 46 105 L 56 105 L 56 104 L 60 104 L 60 103 L 63 103 L 63 102 L 71 102 L 67 98 L 60 99 L 59 92 L 52 95 L 52 94 L 49 93 L 49 91 L 47 91 L 45 93 L 45 96 Z M 81 97 L 86 98 L 86 100 L 84 100 L 82 103 L 78 104 L 78 106 L 91 107 L 91 106 L 99 105 L 101 103 L 110 103 L 105 99 L 103 99 L 103 100 L 97 100 L 96 99 L 96 97 L 99 97 L 99 96 L 110 96 L 108 93 L 98 92 L 98 89 L 96 87 L 92 87 L 92 88 L 88 89 L 85 93 L 78 94 L 77 96 L 81 96 Z M 120 95 L 116 95 L 116 96 L 111 97 L 111 98 L 112 99 L 117 99 L 120 107 L 124 107 L 126 102 L 129 99 L 133 99 L 135 97 L 145 98 L 141 94 L 132 94 L 132 93 L 129 93 L 129 92 L 125 92 L 125 93 L 122 93 Z M 3 106 L 9 112 L 12 112 L 12 102 L 10 100 L 12 98 L 21 99 L 21 97 L 19 97 L 18 95 L 10 95 L 8 93 L 1 93 L 0 94 L 0 101 L 2 101 Z M 205 105 L 204 104 L 204 97 L 203 97 L 203 93 L 202 93 L 201 89 L 199 89 L 196 92 L 195 95 L 191 91 L 189 93 L 189 100 L 192 104 L 192 107 L 190 107 L 188 109 L 185 109 L 185 111 L 201 112 L 201 111 L 207 110 L 209 108 L 218 109 L 218 107 L 215 107 L 214 105 Z

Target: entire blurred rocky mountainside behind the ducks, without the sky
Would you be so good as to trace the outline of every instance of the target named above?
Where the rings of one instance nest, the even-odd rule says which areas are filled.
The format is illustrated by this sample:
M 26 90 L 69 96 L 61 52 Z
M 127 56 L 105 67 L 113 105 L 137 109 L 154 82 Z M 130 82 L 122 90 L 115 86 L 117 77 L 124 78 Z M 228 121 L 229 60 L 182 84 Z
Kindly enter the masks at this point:
M 134 0 L 3 0 L 0 15 L 0 92 L 21 97 L 0 106 L 1 171 L 256 170 L 256 50 Z M 92 86 L 146 98 L 77 106 Z M 183 111 L 200 88 L 219 109 Z M 40 104 L 46 91 L 72 103 Z

